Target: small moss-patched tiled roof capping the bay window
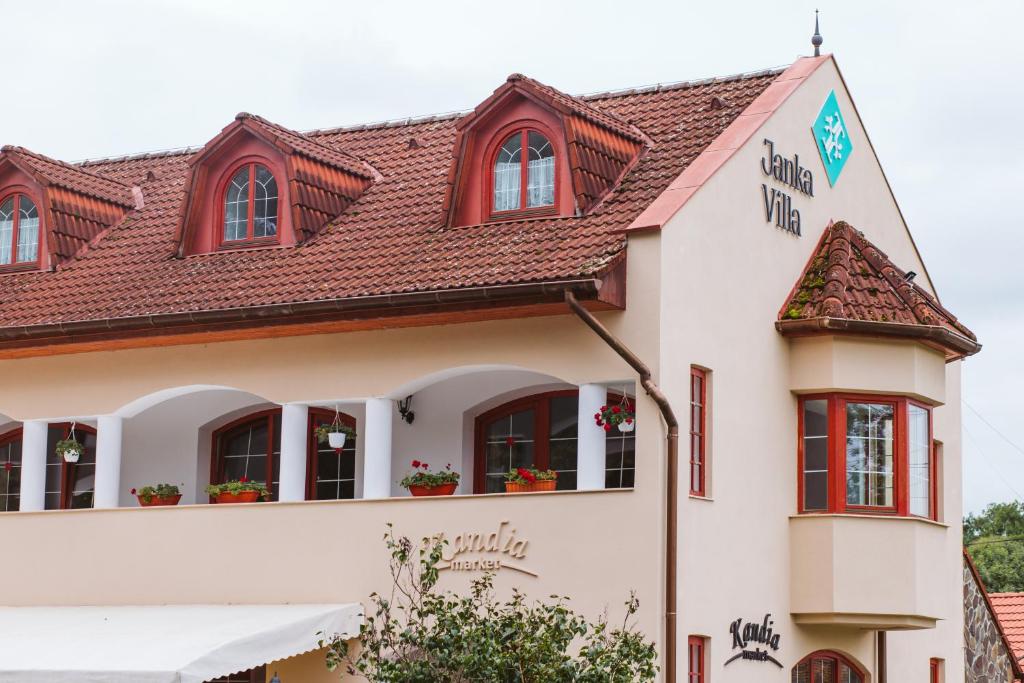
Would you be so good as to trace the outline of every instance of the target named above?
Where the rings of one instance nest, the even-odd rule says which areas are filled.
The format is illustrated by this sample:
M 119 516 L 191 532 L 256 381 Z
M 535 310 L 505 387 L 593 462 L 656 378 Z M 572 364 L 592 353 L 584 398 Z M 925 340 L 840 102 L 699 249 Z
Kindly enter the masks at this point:
M 981 350 L 973 332 L 845 221 L 825 228 L 776 326 L 786 335 L 920 338 L 956 355 Z

